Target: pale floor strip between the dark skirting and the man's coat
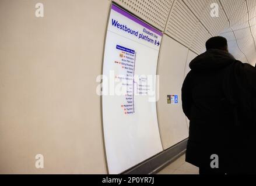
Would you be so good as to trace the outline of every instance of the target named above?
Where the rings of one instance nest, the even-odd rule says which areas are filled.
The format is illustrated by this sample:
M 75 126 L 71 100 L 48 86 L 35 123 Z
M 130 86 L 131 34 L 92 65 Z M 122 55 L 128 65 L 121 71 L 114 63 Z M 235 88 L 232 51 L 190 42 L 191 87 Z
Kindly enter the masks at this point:
M 185 162 L 184 154 L 157 174 L 199 174 L 199 169 Z

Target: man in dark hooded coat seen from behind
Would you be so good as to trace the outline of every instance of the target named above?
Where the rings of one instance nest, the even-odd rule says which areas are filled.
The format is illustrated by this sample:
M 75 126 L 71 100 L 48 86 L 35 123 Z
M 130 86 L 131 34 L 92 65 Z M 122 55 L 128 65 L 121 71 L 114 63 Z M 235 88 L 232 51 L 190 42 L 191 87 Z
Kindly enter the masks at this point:
M 186 161 L 200 174 L 255 173 L 256 69 L 234 59 L 226 38 L 210 38 L 206 50 L 190 63 L 182 88 Z

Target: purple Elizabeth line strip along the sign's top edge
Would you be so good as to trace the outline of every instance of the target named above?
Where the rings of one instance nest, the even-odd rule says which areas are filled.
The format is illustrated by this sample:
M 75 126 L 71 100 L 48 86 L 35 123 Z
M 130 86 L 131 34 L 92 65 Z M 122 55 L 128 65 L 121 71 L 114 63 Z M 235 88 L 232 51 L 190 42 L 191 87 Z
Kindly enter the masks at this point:
M 118 8 L 117 6 L 115 5 L 112 5 L 112 10 L 115 10 L 116 12 L 120 13 L 121 15 L 133 20 L 134 22 L 138 23 L 138 24 L 141 24 L 141 26 L 145 27 L 145 28 L 148 28 L 148 30 L 151 30 L 153 31 L 154 33 L 160 35 L 160 36 L 163 36 L 163 33 L 156 30 L 155 28 L 149 26 L 148 24 L 142 22 L 141 20 L 139 20 L 138 18 L 130 15 L 129 13 L 125 12 L 124 10 Z

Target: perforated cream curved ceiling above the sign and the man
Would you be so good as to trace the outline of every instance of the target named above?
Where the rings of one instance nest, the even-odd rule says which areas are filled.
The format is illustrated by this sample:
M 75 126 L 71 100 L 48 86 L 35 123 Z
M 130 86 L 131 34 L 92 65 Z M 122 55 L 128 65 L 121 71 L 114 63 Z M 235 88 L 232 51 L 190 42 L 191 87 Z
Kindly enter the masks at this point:
M 194 52 L 204 51 L 211 35 L 222 35 L 237 59 L 255 58 L 256 0 L 113 1 Z M 211 17 L 212 3 L 218 3 L 219 17 Z

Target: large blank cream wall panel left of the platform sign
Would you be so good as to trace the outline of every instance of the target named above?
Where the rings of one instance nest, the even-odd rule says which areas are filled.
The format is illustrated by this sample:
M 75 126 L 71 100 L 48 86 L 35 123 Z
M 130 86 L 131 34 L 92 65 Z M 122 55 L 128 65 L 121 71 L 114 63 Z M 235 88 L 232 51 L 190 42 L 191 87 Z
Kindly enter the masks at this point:
M 37 1 L 0 1 L 0 173 L 107 173 L 96 77 L 110 1 L 40 2 L 44 18 Z

